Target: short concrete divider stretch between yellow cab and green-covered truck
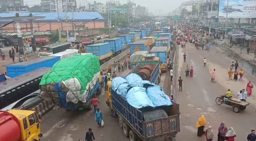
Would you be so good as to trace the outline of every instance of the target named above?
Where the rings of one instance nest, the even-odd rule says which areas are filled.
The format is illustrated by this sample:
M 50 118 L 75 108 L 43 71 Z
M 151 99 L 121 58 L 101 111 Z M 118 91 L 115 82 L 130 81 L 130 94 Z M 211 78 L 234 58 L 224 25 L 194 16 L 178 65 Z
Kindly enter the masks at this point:
M 42 103 L 36 105 L 34 108 L 32 108 L 30 110 L 40 112 L 41 115 L 44 115 L 49 110 L 51 110 L 53 107 L 54 107 L 53 103 L 49 103 L 49 102 L 44 100 Z

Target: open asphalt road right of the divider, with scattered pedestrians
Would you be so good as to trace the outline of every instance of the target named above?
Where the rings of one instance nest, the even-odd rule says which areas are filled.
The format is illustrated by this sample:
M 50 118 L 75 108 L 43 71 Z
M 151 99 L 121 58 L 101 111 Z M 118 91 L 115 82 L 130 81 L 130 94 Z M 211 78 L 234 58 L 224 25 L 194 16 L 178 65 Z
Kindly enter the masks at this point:
M 236 141 L 246 141 L 247 135 L 251 129 L 256 129 L 255 124 L 255 95 L 252 90 L 252 96 L 247 101 L 250 105 L 244 111 L 233 112 L 232 107 L 215 103 L 216 97 L 225 94 L 230 88 L 234 98 L 236 93 L 246 88 L 248 80 L 256 81 L 255 75 L 251 75 L 245 70 L 244 81 L 229 80 L 228 70 L 232 61 L 239 62 L 239 70 L 243 67 L 242 60 L 239 57 L 227 55 L 228 51 L 220 47 L 212 47 L 210 50 L 196 50 L 192 43 L 187 43 L 186 48 L 179 48 L 178 51 L 178 74 L 183 79 L 183 92 L 177 92 L 177 102 L 180 104 L 181 132 L 177 135 L 177 141 L 193 140 L 205 141 L 205 136 L 197 137 L 196 122 L 201 115 L 207 120 L 207 127 L 212 126 L 214 130 L 214 141 L 217 141 L 218 127 L 220 123 L 225 122 L 228 128 L 233 127 L 236 131 Z M 187 54 L 186 62 L 183 61 L 183 54 Z M 206 57 L 208 63 L 203 66 L 203 58 Z M 235 60 L 234 60 L 235 59 Z M 185 66 L 194 66 L 193 78 L 185 77 Z M 216 83 L 211 82 L 213 69 L 216 69 Z M 178 78 L 178 77 L 177 77 Z M 239 77 L 238 77 L 239 79 Z M 178 80 L 178 79 L 177 79 Z M 177 83 L 177 82 L 176 82 Z

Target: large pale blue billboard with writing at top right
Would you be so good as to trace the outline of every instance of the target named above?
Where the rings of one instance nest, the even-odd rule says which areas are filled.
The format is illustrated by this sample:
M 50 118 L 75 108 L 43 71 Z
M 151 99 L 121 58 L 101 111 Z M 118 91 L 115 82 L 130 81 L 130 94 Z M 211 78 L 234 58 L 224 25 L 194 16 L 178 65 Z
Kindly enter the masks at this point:
M 218 18 L 227 12 L 228 18 L 256 18 L 256 0 L 219 0 Z

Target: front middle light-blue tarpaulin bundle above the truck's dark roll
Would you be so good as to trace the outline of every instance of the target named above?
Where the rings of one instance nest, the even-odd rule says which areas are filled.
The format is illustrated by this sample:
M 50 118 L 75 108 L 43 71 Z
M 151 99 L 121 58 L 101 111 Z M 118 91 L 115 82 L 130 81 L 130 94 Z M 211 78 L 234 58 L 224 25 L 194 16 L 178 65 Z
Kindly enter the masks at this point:
M 146 93 L 146 88 L 143 87 L 132 87 L 127 92 L 127 102 L 135 108 L 143 107 L 154 107 L 154 104 L 151 102 L 150 98 Z

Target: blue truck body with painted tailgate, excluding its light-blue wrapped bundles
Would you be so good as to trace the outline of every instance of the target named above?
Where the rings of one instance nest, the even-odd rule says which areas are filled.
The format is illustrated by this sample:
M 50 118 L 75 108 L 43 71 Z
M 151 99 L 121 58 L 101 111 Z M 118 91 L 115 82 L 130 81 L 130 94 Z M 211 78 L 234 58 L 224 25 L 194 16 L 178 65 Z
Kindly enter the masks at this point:
M 180 131 L 179 104 L 171 100 L 171 106 L 137 109 L 111 88 L 111 81 L 107 82 L 106 98 L 111 116 L 118 116 L 120 128 L 130 141 L 175 141 Z

